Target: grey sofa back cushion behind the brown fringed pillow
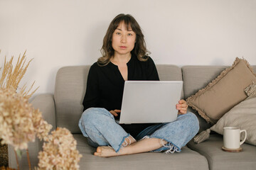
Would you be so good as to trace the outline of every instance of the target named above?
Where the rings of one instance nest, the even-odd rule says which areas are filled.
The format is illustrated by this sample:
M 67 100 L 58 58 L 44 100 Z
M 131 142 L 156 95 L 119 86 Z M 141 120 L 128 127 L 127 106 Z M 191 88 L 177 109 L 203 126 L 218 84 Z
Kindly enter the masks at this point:
M 218 75 L 223 72 L 225 66 L 183 66 L 181 68 L 183 74 L 183 88 L 184 97 L 188 98 L 197 91 L 207 86 L 213 79 L 218 77 Z M 256 72 L 256 66 L 252 66 L 254 72 Z M 210 124 L 206 122 L 200 115 L 198 115 L 196 110 L 188 108 L 189 111 L 195 113 L 198 116 L 200 130 L 199 132 L 210 128 Z

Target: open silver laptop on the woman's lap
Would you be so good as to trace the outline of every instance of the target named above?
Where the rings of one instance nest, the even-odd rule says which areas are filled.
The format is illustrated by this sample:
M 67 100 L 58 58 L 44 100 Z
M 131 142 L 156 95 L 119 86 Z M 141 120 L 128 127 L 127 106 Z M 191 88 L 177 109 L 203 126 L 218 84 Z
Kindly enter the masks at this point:
M 169 123 L 177 119 L 183 81 L 125 81 L 119 124 Z

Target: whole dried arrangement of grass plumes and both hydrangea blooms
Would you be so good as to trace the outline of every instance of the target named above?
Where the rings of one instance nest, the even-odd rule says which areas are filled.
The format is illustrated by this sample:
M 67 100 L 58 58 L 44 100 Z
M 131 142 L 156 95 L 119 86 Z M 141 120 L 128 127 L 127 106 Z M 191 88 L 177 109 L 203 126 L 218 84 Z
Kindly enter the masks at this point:
M 0 51 L 1 52 L 1 51 Z M 42 113 L 34 109 L 28 99 L 35 93 L 32 86 L 26 91 L 26 85 L 19 88 L 28 65 L 26 52 L 18 57 L 16 66 L 13 59 L 4 61 L 4 70 L 0 79 L 0 138 L 2 145 L 12 145 L 16 154 L 17 169 L 18 156 L 26 149 L 29 169 L 31 163 L 28 154 L 28 142 L 34 142 L 38 137 L 44 140 L 43 152 L 39 152 L 39 167 L 36 169 L 79 169 L 78 162 L 81 154 L 76 149 L 76 141 L 69 130 L 57 128 L 51 135 L 48 133 L 52 125 L 43 120 Z M 1 169 L 6 169 L 1 167 Z M 7 168 L 9 169 L 9 168 Z

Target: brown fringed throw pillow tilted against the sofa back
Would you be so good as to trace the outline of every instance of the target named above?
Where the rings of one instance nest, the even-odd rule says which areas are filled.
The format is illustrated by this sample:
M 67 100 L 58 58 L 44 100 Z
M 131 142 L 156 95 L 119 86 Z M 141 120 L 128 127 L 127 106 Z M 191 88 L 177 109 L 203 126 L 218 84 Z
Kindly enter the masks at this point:
M 244 89 L 256 82 L 250 64 L 235 59 L 232 67 L 225 69 L 208 86 L 187 99 L 188 106 L 198 111 L 208 123 L 215 124 L 231 108 L 247 98 Z

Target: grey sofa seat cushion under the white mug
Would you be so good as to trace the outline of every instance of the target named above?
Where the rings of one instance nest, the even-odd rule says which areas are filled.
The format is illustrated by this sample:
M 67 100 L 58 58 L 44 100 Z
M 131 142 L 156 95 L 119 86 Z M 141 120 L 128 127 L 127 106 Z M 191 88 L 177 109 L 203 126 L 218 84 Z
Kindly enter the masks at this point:
M 188 147 L 202 154 L 208 159 L 209 169 L 254 169 L 256 167 L 256 147 L 243 144 L 242 152 L 224 152 L 223 136 L 211 134 L 205 142 L 196 144 L 191 140 Z

